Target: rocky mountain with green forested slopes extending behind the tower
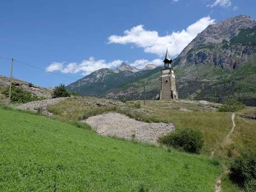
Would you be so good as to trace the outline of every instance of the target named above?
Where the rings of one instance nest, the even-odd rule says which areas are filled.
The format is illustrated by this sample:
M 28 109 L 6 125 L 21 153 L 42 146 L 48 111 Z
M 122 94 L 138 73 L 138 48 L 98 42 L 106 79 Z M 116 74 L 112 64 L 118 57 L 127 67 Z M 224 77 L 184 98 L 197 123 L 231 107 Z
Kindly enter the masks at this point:
M 247 105 L 256 106 L 255 53 L 254 19 L 237 16 L 211 24 L 174 60 L 179 97 L 214 102 L 237 97 Z M 152 99 L 160 91 L 160 68 L 146 70 L 147 73 L 123 71 L 129 74 L 121 72 L 118 73 L 118 77 L 111 73 L 105 77 L 107 81 L 103 80 L 102 85 L 90 84 L 95 90 L 93 93 L 89 89 L 83 90 L 79 83 L 72 84 L 68 88 L 71 91 L 75 89 L 82 95 L 142 99 L 143 83 L 141 82 L 146 82 L 146 97 Z M 87 76 L 83 79 L 86 78 L 91 77 Z M 111 83 L 110 87 L 109 83 Z M 104 92 L 97 92 L 105 87 Z

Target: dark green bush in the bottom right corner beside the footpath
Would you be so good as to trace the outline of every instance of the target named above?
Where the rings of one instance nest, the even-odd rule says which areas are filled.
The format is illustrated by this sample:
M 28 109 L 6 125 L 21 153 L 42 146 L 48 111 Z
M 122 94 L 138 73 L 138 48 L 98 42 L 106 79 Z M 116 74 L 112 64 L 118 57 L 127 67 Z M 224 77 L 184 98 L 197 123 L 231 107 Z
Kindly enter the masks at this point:
M 245 186 L 245 184 L 248 185 L 247 188 L 255 186 L 256 152 L 246 151 L 237 156 L 230 166 L 229 178 L 240 186 Z

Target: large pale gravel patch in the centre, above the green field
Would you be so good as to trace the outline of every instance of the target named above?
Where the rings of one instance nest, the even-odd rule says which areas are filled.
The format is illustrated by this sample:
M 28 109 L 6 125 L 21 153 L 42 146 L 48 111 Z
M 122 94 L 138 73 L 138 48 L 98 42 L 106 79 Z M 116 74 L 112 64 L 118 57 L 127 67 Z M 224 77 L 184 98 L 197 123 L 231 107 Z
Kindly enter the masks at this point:
M 131 119 L 116 112 L 89 117 L 83 120 L 97 133 L 145 142 L 157 142 L 157 139 L 174 130 L 173 124 L 147 123 Z

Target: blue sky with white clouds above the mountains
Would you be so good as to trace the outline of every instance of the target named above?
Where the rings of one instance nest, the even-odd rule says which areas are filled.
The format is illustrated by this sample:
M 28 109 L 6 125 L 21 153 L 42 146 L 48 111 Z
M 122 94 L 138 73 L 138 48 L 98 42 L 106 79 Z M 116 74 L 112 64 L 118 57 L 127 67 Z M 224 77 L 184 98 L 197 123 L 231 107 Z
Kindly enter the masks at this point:
M 255 7 L 255 0 L 2 0 L 0 57 L 43 69 L 15 61 L 16 78 L 68 85 L 123 61 L 161 65 L 166 46 L 176 57 L 208 24 L 239 14 L 255 19 Z M 0 66 L 0 75 L 9 76 L 10 61 L 0 59 Z

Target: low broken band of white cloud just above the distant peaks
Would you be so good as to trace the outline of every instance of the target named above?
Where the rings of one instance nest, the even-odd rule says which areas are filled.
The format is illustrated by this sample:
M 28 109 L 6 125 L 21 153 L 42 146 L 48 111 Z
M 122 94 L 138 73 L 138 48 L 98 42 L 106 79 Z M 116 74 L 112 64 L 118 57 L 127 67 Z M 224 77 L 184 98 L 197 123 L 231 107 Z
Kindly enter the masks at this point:
M 114 60 L 111 62 L 106 62 L 105 60 L 95 60 L 95 58 L 90 57 L 88 58 L 88 60 L 83 60 L 80 64 L 72 62 L 65 65 L 65 62 L 52 62 L 48 67 L 46 67 L 46 71 L 47 72 L 60 71 L 62 73 L 82 72 L 82 75 L 86 76 L 93 71 L 99 70 L 100 68 L 114 69 L 117 66 L 120 66 L 123 62 L 124 61 L 122 60 Z M 141 59 L 128 64 L 133 67 L 141 69 L 149 63 L 155 64 L 157 66 L 163 65 L 163 61 L 158 58 L 152 61 Z

